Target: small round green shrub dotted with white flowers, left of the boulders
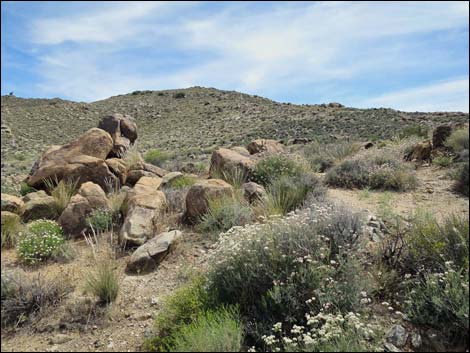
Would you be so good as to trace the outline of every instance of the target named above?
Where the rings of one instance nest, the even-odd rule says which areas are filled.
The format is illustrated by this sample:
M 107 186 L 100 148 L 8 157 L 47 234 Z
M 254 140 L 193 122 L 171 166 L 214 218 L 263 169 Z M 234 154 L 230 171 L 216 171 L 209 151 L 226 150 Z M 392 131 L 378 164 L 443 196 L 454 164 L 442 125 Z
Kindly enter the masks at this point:
M 19 240 L 17 252 L 21 261 L 33 265 L 47 260 L 64 244 L 64 232 L 54 221 L 40 219 L 27 225 Z

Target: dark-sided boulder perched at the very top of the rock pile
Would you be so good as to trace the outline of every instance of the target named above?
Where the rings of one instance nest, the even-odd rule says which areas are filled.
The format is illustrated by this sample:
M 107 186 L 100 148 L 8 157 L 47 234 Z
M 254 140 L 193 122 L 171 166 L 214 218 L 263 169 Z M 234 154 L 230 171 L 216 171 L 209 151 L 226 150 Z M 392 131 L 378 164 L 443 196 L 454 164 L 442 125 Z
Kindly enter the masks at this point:
M 113 139 L 113 148 L 108 157 L 122 158 L 129 147 L 137 140 L 137 125 L 128 115 L 113 114 L 104 117 L 98 128 L 108 132 Z

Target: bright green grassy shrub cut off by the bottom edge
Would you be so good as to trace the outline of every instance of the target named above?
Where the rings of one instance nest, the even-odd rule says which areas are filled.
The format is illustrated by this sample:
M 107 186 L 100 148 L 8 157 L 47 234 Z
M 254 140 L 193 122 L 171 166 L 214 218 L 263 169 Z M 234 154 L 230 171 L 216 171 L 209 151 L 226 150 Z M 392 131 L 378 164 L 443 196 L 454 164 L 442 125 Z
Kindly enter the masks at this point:
M 243 327 L 238 311 L 206 311 L 173 337 L 172 352 L 240 352 Z

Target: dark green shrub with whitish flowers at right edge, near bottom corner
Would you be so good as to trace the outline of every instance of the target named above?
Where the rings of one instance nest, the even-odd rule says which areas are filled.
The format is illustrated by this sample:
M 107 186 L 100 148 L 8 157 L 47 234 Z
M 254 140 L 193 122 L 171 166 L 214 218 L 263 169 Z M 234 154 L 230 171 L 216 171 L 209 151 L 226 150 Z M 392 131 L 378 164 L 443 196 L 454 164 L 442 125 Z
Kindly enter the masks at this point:
M 454 341 L 468 343 L 468 268 L 426 274 L 407 295 L 406 313 L 411 322 L 433 327 Z M 460 341 L 460 342 L 459 342 Z

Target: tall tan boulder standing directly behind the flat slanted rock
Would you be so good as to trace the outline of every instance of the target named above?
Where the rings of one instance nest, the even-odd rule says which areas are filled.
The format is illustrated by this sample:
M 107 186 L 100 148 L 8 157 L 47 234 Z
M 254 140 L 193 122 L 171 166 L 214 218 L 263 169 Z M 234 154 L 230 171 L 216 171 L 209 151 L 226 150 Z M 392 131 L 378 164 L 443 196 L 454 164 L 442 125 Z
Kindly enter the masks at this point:
M 142 177 L 127 193 L 127 213 L 119 233 L 123 245 L 142 245 L 154 235 L 166 206 L 165 194 L 159 191 L 161 178 Z

